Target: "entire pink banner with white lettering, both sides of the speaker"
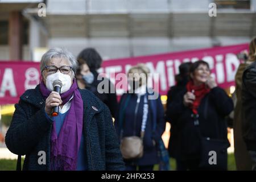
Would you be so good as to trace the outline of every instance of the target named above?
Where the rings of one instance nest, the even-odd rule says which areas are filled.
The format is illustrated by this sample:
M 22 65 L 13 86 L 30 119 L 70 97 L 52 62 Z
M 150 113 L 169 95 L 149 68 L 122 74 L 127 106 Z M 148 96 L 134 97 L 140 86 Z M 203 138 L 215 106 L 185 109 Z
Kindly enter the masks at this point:
M 175 84 L 175 75 L 181 63 L 203 59 L 207 61 L 219 86 L 228 88 L 234 85 L 240 60 L 237 53 L 248 50 L 248 44 L 236 46 L 214 47 L 165 53 L 152 56 L 130 57 L 127 59 L 107 60 L 102 64 L 100 72 L 106 73 L 115 85 L 117 73 L 127 73 L 132 65 L 145 63 L 151 73 L 159 73 L 160 94 L 167 94 L 170 86 Z M 40 80 L 39 63 L 23 61 L 0 61 L 0 105 L 15 104 L 26 89 L 35 88 Z M 158 81 L 158 80 L 155 80 Z M 117 94 L 123 90 L 117 88 Z

